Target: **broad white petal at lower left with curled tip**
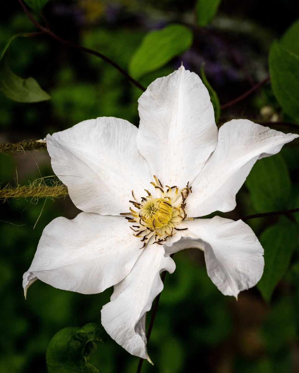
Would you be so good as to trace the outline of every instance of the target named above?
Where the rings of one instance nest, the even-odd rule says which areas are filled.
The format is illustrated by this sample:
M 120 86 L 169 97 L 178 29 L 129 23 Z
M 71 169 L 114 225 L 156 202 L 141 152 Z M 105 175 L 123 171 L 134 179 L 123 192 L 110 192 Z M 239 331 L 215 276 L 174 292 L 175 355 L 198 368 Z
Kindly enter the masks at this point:
M 23 286 L 36 278 L 55 288 L 94 294 L 124 279 L 141 255 L 141 242 L 121 216 L 80 213 L 54 219 L 43 231 Z

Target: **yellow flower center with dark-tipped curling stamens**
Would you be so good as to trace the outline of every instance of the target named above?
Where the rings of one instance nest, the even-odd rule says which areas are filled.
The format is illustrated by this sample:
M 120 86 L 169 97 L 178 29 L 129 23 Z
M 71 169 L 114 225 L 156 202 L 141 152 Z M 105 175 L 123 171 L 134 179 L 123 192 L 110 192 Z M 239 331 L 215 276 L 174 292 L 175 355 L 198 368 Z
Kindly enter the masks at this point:
M 161 242 L 173 236 L 175 231 L 182 231 L 187 228 L 178 228 L 179 224 L 187 217 L 185 212 L 186 198 L 189 193 L 192 193 L 192 187 L 188 185 L 183 189 L 179 189 L 176 185 L 165 187 L 154 175 L 155 182 L 151 182 L 154 186 L 157 196 L 153 197 L 147 190 L 147 197 L 141 197 L 141 202 L 138 202 L 132 191 L 134 201 L 129 201 L 133 204 L 130 207 L 129 213 L 121 213 L 128 215 L 126 219 L 130 223 L 135 223 L 130 228 L 136 232 L 135 237 L 141 238 L 144 248 L 149 241 L 153 244 L 163 245 Z M 193 220 L 193 219 L 192 219 Z

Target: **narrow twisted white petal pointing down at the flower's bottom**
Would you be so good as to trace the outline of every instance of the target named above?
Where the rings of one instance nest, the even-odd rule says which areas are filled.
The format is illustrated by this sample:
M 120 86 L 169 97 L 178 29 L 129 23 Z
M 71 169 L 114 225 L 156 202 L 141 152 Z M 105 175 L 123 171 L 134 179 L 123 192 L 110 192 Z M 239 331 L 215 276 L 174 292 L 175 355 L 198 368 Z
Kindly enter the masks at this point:
M 130 274 L 114 286 L 110 303 L 102 308 L 102 325 L 108 334 L 130 354 L 148 359 L 145 313 L 162 291 L 160 273 L 172 273 L 175 263 L 164 257 L 160 245 L 149 244 Z

